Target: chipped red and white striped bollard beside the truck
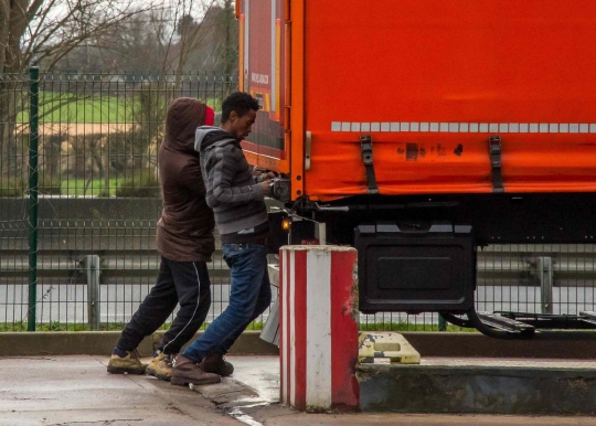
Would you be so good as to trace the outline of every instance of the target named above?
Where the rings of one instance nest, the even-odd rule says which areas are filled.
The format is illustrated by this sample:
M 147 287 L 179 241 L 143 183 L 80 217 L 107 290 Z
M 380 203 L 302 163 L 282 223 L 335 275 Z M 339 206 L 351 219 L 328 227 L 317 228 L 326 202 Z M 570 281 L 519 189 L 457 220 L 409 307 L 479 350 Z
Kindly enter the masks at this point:
M 356 251 L 279 251 L 281 403 L 301 411 L 359 408 Z

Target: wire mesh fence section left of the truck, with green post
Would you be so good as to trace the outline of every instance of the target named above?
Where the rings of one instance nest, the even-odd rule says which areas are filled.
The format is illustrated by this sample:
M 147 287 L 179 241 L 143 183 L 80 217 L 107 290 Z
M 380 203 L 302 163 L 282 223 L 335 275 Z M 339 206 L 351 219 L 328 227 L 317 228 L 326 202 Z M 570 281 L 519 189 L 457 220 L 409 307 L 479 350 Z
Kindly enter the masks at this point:
M 0 74 L 0 330 L 121 328 L 157 277 L 168 104 L 219 110 L 236 89 L 203 73 Z

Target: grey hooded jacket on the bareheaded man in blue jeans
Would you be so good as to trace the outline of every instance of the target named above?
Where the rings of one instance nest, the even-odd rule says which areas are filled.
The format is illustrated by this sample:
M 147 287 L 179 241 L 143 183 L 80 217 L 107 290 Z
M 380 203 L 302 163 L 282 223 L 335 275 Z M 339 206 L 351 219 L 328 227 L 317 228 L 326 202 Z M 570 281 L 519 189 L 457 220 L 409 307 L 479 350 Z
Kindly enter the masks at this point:
M 222 243 L 249 243 L 268 233 L 260 183 L 252 174 L 240 142 L 219 127 L 196 129 L 206 203 L 213 209 Z

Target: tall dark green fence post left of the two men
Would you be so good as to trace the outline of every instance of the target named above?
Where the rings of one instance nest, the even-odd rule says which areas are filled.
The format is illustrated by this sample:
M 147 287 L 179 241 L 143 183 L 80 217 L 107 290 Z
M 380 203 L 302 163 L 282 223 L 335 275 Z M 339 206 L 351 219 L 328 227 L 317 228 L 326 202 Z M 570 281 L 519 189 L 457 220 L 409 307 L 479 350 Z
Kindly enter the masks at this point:
M 38 137 L 39 72 L 29 68 L 29 310 L 28 331 L 35 331 L 38 300 Z

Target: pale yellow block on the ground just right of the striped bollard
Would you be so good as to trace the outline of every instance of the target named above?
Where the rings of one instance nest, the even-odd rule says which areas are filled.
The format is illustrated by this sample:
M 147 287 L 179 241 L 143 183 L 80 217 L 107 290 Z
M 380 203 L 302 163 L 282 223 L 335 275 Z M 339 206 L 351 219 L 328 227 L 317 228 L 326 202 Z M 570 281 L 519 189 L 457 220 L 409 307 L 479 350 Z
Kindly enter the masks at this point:
M 358 359 L 360 363 L 419 364 L 421 354 L 400 333 L 366 332 L 360 333 Z

